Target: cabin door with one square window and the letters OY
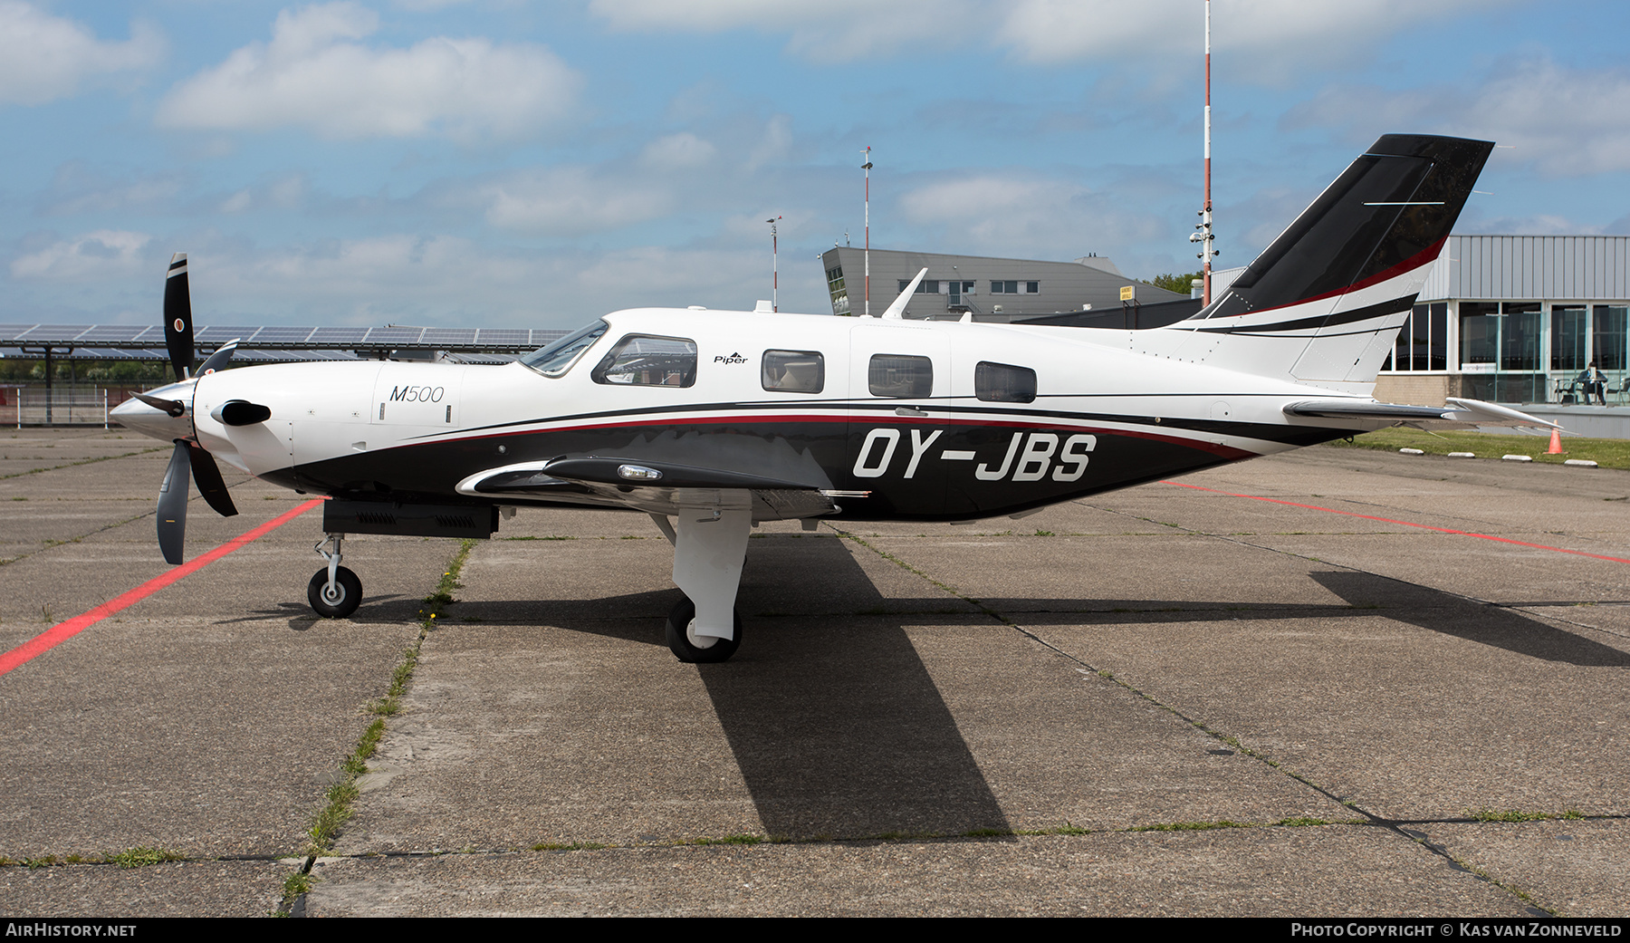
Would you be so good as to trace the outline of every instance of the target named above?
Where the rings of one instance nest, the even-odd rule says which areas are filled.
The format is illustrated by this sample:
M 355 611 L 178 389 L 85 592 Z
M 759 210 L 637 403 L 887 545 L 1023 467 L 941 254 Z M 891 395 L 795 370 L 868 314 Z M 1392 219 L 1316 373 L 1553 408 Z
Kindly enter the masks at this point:
M 867 514 L 937 514 L 945 501 L 950 341 L 929 325 L 849 331 L 848 485 Z M 861 507 L 856 507 L 861 511 Z

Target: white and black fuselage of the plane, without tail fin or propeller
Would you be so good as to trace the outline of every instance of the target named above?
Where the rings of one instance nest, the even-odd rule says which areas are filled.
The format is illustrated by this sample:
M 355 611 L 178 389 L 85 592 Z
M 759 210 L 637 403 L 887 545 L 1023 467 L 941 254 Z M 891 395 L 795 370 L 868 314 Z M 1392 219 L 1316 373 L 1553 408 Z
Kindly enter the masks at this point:
M 553 377 L 523 364 L 225 370 L 197 380 L 192 423 L 209 452 L 305 493 L 613 506 L 460 489 L 595 455 L 831 491 L 852 519 L 1012 514 L 1368 427 L 1288 423 L 1286 403 L 1332 392 L 1115 349 L 1125 331 L 662 308 L 605 321 Z M 606 367 L 628 338 L 680 357 L 693 346 L 693 372 Z M 210 418 L 230 400 L 271 419 Z

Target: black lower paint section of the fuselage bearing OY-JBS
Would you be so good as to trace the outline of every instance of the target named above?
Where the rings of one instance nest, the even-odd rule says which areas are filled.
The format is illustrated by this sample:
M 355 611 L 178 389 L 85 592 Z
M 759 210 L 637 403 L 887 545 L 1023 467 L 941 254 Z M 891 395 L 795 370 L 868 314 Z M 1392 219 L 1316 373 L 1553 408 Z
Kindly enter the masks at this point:
M 1257 457 L 1148 424 L 1134 431 L 1082 427 L 1060 424 L 1060 413 L 1022 414 L 1017 410 L 1002 410 L 1001 419 L 980 416 L 976 410 L 957 410 L 949 418 L 903 418 L 892 414 L 898 401 L 879 406 L 888 413 L 856 410 L 848 418 L 748 414 L 725 419 L 670 413 L 660 423 L 624 414 L 566 429 L 489 427 L 461 439 L 411 442 L 261 476 L 308 493 L 492 504 L 497 501 L 460 496 L 453 488 L 469 475 L 504 465 L 598 455 L 727 468 L 818 489 L 866 491 L 864 498 L 838 499 L 843 507 L 838 517 L 852 520 L 957 520 L 1012 514 Z M 934 403 L 924 406 L 944 411 Z M 1092 418 L 1082 419 L 1090 423 Z M 1164 424 L 1201 436 L 1236 434 L 1294 445 L 1350 434 L 1245 423 L 1167 419 Z M 554 504 L 518 496 L 502 502 Z

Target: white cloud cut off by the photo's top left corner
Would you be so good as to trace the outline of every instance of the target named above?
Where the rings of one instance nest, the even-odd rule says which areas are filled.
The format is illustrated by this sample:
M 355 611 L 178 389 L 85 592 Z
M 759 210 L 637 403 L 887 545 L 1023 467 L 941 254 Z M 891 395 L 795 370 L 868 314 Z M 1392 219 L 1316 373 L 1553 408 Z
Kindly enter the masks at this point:
M 126 42 L 104 42 L 72 20 L 16 0 L 0 0 L 0 103 L 42 104 L 82 85 L 137 72 L 165 55 L 150 26 L 130 26 Z

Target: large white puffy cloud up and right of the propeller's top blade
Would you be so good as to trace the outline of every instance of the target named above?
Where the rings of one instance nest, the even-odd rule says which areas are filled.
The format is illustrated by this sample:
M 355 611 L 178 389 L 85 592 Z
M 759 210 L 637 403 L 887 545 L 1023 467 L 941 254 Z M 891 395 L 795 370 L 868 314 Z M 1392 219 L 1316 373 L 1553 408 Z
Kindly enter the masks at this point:
M 236 49 L 176 85 L 165 127 L 308 127 L 336 139 L 513 139 L 561 117 L 582 80 L 543 46 L 437 36 L 408 49 L 357 39 L 378 16 L 355 3 L 284 10 L 272 41 Z

